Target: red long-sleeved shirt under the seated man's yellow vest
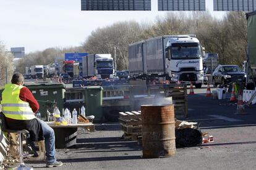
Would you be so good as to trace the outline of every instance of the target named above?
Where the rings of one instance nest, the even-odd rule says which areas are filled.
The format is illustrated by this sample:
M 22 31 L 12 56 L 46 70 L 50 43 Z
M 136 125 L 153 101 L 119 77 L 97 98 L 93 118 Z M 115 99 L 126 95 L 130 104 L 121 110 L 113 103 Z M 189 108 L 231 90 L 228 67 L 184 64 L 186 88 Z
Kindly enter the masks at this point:
M 29 106 L 32 108 L 33 112 L 36 113 L 39 109 L 39 104 L 36 101 L 34 95 L 27 87 L 22 87 L 20 89 L 20 100 L 28 102 Z M 6 121 L 12 121 L 11 118 L 6 118 Z

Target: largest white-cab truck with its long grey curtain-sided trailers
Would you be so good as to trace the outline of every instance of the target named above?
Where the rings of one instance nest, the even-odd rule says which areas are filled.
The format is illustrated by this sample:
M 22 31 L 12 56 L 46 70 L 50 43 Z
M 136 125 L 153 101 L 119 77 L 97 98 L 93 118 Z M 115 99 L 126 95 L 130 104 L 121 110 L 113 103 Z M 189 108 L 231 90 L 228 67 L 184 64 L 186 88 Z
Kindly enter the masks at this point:
M 130 78 L 203 83 L 204 48 L 195 35 L 166 35 L 129 45 Z

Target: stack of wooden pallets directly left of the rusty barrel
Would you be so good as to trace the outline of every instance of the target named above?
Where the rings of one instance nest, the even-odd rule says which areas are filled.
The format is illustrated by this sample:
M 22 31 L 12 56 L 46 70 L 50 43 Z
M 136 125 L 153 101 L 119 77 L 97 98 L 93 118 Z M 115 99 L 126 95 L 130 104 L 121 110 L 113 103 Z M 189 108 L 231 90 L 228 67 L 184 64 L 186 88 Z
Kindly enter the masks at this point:
M 124 131 L 124 139 L 137 140 L 142 136 L 141 111 L 119 112 L 119 123 Z

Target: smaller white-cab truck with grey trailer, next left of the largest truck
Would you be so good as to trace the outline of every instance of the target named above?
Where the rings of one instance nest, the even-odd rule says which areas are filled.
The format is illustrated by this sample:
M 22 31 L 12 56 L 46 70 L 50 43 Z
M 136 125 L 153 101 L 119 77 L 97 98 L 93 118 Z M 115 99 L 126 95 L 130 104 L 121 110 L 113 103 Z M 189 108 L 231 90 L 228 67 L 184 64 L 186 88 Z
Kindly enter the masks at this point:
M 84 78 L 92 76 L 109 78 L 114 74 L 114 61 L 111 54 L 89 54 L 82 57 L 82 72 Z

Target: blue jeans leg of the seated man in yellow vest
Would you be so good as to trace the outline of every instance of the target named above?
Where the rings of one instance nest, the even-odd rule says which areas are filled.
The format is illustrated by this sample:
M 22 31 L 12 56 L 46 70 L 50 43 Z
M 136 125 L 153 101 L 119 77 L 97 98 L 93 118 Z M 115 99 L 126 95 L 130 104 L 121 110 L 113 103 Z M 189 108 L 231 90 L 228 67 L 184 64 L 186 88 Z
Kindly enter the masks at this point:
M 36 118 L 38 119 L 38 118 Z M 49 127 L 45 121 L 38 119 L 43 129 L 43 137 L 45 137 L 46 163 L 51 164 L 56 161 L 55 158 L 55 136 L 53 128 Z

